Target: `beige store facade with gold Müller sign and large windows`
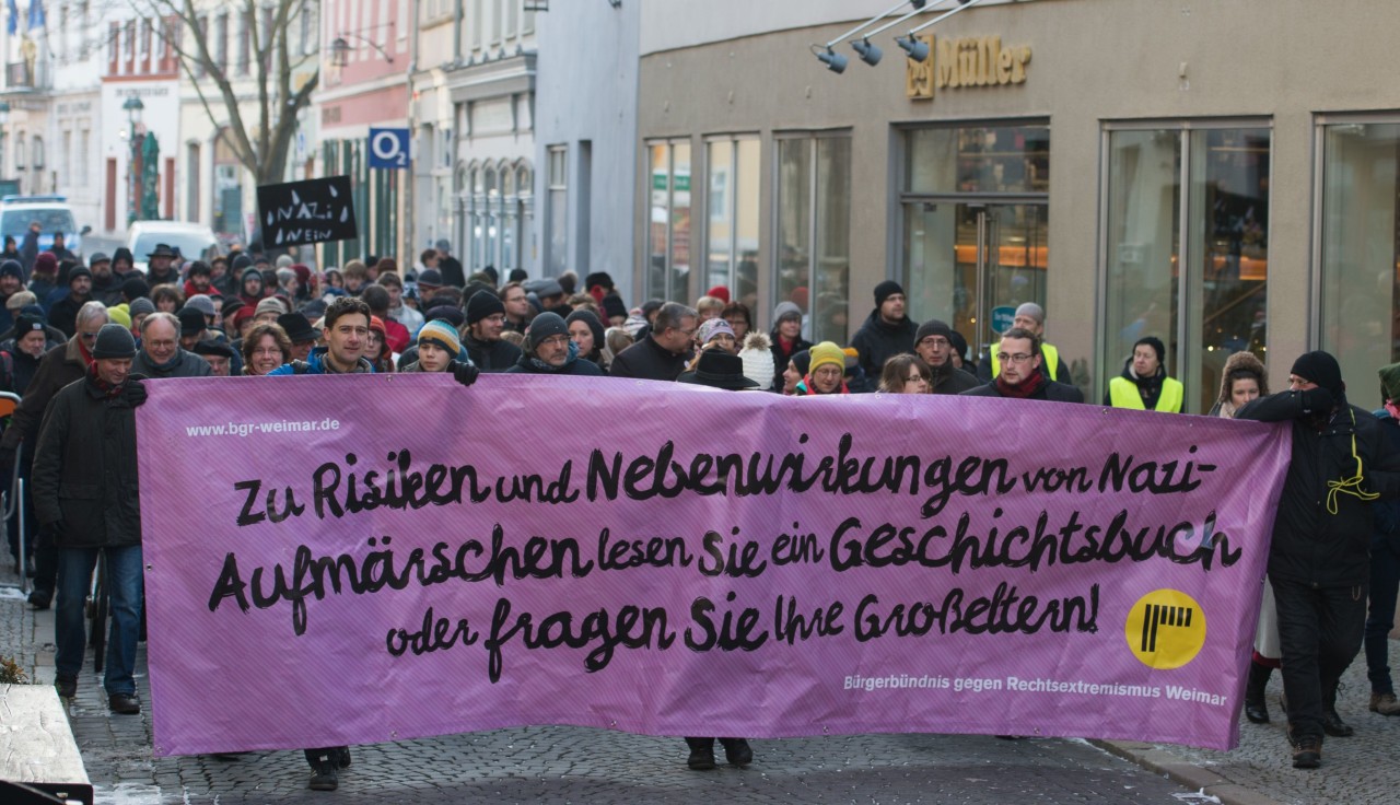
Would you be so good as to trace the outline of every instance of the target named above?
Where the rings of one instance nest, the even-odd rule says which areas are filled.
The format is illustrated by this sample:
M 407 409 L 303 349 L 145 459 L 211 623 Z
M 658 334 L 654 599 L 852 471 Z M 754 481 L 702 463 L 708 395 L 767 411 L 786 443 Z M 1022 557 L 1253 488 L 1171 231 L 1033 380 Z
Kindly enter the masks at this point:
M 1036 301 L 1091 398 L 1152 335 L 1191 412 L 1236 350 L 1368 389 L 1400 357 L 1400 88 L 1366 78 L 1400 6 L 987 0 L 916 63 L 930 3 L 843 74 L 813 49 L 886 3 L 773 6 L 643 4 L 633 298 L 728 280 L 844 342 L 896 279 L 983 351 Z

